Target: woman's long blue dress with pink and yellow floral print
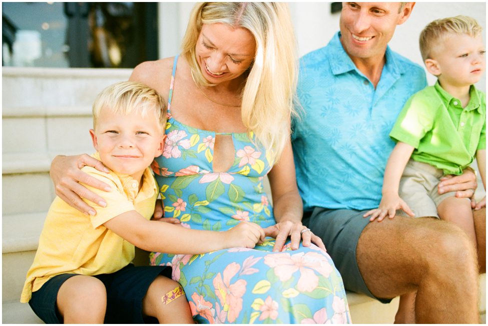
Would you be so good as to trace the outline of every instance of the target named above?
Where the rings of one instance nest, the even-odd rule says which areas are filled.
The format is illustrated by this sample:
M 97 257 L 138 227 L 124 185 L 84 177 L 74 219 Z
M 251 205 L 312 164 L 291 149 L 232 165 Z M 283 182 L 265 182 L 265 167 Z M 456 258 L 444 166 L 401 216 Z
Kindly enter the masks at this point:
M 152 164 L 165 217 L 183 227 L 227 230 L 241 220 L 275 224 L 263 191 L 271 169 L 264 148 L 247 133 L 218 133 L 185 125 L 171 115 L 176 72 L 168 98 L 164 152 Z M 232 136 L 234 164 L 213 172 L 215 136 Z M 253 140 L 255 135 L 251 133 Z M 315 245 L 272 252 L 274 241 L 254 249 L 231 248 L 198 255 L 152 252 L 151 264 L 173 267 L 199 323 L 349 323 L 342 278 L 329 255 Z

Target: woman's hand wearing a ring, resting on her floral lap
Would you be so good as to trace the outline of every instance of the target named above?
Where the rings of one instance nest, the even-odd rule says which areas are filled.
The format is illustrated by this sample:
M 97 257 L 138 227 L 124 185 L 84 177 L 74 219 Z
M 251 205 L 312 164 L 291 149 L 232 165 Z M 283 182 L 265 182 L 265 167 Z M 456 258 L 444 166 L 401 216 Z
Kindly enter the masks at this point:
M 302 224 L 302 222 L 294 222 L 290 220 L 280 221 L 274 225 L 264 228 L 264 234 L 276 239 L 273 246 L 273 251 L 281 251 L 288 236 L 291 236 L 292 250 L 298 249 L 300 239 L 303 239 L 304 247 L 310 246 L 310 243 L 313 242 L 319 248 L 325 250 L 325 245 L 322 242 L 322 239 L 313 234 L 310 229 Z

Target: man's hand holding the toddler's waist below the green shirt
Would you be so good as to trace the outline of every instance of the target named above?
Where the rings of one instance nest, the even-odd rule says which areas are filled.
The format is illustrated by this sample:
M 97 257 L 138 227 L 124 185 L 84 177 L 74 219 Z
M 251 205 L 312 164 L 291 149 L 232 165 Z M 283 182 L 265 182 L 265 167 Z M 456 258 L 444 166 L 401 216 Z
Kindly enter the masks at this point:
M 456 191 L 458 198 L 471 198 L 471 208 L 474 208 L 476 202 L 474 201 L 474 191 L 478 183 L 476 182 L 476 174 L 471 168 L 466 168 L 461 175 L 444 175 L 440 178 L 437 185 L 437 192 L 439 194 Z

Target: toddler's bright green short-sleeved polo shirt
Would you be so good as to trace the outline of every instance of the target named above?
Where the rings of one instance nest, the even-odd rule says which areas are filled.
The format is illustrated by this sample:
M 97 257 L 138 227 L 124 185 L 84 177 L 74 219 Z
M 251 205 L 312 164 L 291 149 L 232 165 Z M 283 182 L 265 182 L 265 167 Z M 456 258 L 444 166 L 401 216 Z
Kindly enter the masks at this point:
M 463 108 L 439 81 L 425 87 L 405 103 L 390 137 L 415 147 L 413 160 L 461 174 L 486 148 L 486 95 L 471 85 L 469 96 Z

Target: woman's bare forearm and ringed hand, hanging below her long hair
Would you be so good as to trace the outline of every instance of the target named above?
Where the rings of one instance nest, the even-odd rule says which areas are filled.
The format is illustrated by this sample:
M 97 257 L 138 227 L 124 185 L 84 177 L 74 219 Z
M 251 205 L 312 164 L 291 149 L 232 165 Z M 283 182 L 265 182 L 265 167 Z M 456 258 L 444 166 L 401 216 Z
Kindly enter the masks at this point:
M 291 235 L 291 248 L 298 249 L 300 239 L 303 245 L 310 246 L 310 241 L 325 249 L 320 237 L 312 232 L 302 232 L 306 227 L 301 220 L 303 203 L 298 193 L 295 176 L 295 163 L 291 141 L 288 140 L 278 162 L 268 173 L 271 193 L 273 196 L 273 212 L 276 224 L 265 228 L 266 236 L 276 238 L 273 251 L 280 251 L 289 235 Z

